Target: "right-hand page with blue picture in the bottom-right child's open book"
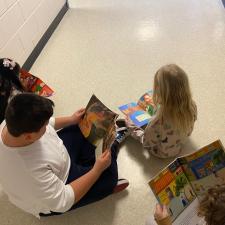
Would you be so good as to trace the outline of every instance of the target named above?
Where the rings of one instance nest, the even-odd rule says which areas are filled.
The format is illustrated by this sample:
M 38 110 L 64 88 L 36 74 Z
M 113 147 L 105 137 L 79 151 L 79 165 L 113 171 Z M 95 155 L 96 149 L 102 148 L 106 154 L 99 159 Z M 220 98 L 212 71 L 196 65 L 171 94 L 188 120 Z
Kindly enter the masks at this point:
M 179 162 L 200 199 L 209 188 L 225 183 L 225 152 L 220 141 L 179 158 Z

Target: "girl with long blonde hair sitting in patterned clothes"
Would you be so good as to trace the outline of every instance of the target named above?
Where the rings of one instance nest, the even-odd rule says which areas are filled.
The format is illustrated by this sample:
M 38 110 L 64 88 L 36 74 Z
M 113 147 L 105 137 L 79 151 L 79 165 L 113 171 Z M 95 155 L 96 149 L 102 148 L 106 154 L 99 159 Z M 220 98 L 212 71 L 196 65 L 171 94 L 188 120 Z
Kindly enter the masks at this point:
M 127 126 L 131 136 L 151 154 L 160 158 L 174 157 L 181 152 L 197 119 L 187 74 L 179 66 L 169 64 L 156 72 L 153 101 L 157 111 L 145 130 L 129 120 Z

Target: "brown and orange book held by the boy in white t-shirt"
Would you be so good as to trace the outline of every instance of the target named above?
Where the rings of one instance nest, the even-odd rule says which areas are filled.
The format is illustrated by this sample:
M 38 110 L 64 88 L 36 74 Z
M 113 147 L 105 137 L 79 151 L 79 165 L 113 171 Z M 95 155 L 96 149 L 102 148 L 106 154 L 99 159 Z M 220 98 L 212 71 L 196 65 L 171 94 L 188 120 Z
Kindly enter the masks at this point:
M 84 137 L 97 146 L 103 140 L 103 150 L 111 148 L 116 136 L 118 114 L 106 107 L 95 95 L 89 100 L 79 127 Z

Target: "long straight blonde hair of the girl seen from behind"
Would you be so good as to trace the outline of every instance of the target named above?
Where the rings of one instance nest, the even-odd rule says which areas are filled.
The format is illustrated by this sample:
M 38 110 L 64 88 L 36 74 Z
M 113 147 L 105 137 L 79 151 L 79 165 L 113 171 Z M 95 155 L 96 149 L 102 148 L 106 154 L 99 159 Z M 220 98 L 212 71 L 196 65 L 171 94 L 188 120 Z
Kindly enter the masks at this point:
M 155 74 L 153 101 L 159 105 L 158 116 L 170 120 L 173 126 L 187 135 L 196 119 L 196 105 L 192 100 L 186 73 L 177 65 L 161 67 Z

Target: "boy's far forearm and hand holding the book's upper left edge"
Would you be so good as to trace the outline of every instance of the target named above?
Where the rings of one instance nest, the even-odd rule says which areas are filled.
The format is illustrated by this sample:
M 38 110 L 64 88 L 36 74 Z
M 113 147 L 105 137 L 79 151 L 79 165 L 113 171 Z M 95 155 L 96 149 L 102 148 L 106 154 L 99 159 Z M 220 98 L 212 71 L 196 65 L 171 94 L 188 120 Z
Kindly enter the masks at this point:
M 76 111 L 71 116 L 64 116 L 64 117 L 55 118 L 55 129 L 58 130 L 58 129 L 67 127 L 69 125 L 79 123 L 80 119 L 84 115 L 84 112 L 85 112 L 85 109 L 82 108 L 82 109 Z

